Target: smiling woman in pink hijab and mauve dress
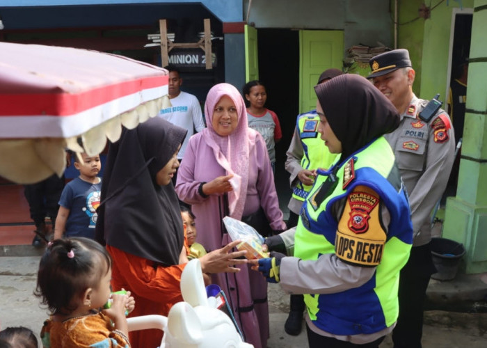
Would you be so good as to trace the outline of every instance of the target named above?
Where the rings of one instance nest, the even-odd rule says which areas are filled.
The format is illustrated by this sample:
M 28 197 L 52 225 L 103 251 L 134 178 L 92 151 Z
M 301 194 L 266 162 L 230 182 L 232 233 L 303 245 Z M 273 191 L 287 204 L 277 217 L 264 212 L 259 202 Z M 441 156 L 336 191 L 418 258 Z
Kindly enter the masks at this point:
M 242 219 L 263 209 L 272 230 L 285 230 L 274 177 L 262 136 L 248 128 L 237 88 L 217 84 L 205 103 L 207 128 L 191 136 L 177 174 L 176 192 L 192 205 L 198 240 L 207 251 L 230 242 L 221 219 Z M 224 199 L 226 196 L 228 200 Z M 265 279 L 247 264 L 237 274 L 213 274 L 225 292 L 244 340 L 265 348 L 269 309 Z

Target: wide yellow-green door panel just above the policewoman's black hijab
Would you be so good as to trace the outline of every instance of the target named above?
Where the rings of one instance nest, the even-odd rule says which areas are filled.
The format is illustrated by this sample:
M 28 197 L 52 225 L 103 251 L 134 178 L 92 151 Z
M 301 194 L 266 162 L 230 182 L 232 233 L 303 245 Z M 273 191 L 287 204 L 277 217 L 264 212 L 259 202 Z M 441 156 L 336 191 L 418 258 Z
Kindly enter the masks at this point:
M 321 72 L 342 70 L 343 31 L 299 31 L 299 49 L 299 113 L 305 113 L 316 108 L 314 86 Z

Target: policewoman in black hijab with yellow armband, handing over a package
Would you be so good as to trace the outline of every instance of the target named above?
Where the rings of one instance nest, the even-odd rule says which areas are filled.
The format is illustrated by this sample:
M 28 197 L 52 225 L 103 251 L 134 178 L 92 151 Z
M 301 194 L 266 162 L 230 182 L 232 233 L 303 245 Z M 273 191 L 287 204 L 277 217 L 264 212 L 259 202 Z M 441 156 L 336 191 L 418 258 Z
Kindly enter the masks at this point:
M 329 171 L 318 170 L 294 257 L 276 252 L 289 230 L 266 239 L 274 252 L 258 269 L 285 291 L 305 294 L 310 347 L 378 347 L 397 320 L 399 271 L 413 240 L 407 194 L 383 137 L 399 115 L 358 75 L 314 89 L 321 139 L 341 155 Z

